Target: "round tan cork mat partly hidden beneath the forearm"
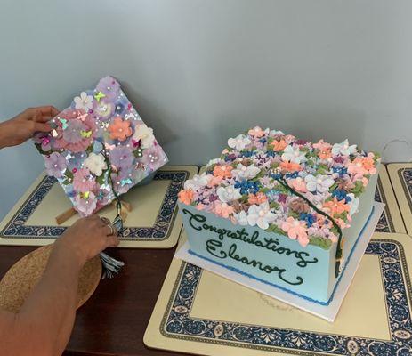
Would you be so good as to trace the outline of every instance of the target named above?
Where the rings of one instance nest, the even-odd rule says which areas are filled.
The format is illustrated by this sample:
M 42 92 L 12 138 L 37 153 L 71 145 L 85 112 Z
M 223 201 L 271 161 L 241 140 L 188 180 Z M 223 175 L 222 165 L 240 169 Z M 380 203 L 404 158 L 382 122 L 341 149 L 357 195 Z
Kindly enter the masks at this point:
M 28 294 L 36 286 L 52 252 L 53 244 L 37 248 L 14 263 L 0 281 L 0 309 L 19 312 Z M 101 280 L 99 256 L 85 263 L 80 271 L 77 289 L 77 309 L 92 295 Z

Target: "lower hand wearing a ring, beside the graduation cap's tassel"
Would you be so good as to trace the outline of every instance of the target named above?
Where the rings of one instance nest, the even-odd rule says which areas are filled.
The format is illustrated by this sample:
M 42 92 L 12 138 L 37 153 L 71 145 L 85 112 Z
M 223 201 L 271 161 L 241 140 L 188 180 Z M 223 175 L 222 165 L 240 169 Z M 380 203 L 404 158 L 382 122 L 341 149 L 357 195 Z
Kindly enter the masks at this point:
M 109 220 L 92 215 L 78 219 L 56 241 L 56 247 L 62 247 L 66 252 L 77 255 L 79 263 L 98 255 L 106 247 L 116 247 L 119 243 L 116 228 Z

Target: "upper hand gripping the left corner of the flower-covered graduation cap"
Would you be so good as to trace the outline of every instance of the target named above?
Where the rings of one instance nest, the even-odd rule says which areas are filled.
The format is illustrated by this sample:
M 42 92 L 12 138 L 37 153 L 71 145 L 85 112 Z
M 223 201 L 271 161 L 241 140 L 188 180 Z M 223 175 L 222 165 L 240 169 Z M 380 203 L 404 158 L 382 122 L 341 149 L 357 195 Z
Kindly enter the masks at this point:
M 53 106 L 39 106 L 26 109 L 16 117 L 0 123 L 0 148 L 23 143 L 36 132 L 52 131 L 47 121 L 57 114 L 59 110 Z

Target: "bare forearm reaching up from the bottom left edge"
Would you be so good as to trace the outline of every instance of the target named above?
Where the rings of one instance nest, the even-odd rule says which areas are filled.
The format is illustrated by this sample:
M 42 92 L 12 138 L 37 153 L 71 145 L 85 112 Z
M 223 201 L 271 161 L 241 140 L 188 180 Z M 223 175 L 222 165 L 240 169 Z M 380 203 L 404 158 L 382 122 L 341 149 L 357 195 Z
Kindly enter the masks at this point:
M 18 346 L 20 353 L 13 354 L 61 355 L 76 316 L 78 274 L 82 264 L 76 252 L 56 243 L 42 279 L 14 320 L 12 337 L 25 343 Z

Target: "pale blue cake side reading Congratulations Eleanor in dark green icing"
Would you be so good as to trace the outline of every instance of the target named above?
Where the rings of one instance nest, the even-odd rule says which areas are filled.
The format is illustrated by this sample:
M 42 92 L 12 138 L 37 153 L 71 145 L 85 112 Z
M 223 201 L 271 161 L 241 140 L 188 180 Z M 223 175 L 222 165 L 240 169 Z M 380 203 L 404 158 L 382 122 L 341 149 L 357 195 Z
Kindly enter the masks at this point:
M 312 300 L 328 300 L 330 250 L 179 203 L 190 251 L 254 279 Z

